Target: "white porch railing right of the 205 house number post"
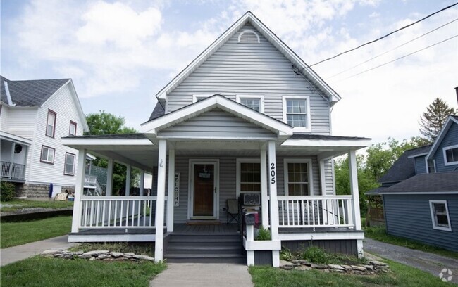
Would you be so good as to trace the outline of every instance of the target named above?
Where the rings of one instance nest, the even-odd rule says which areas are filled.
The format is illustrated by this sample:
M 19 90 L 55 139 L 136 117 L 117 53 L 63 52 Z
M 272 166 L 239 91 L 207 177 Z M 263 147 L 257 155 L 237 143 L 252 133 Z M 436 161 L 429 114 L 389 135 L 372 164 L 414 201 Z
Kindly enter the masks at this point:
M 354 227 L 352 196 L 278 196 L 279 227 Z

